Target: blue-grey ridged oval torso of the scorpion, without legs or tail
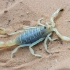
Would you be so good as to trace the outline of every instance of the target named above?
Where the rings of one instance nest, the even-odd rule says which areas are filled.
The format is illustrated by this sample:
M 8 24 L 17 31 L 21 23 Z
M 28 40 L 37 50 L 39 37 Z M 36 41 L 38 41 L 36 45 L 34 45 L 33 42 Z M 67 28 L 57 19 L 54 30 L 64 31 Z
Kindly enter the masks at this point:
M 20 34 L 16 39 L 18 45 L 22 44 L 32 44 L 40 38 L 45 38 L 49 34 L 45 26 L 38 26 L 36 28 L 31 28 L 26 32 Z

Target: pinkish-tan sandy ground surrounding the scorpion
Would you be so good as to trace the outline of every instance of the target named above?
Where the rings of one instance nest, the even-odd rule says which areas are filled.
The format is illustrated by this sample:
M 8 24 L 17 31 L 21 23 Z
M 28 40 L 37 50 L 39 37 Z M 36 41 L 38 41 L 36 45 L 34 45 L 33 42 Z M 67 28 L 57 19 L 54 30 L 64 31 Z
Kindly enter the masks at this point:
M 10 33 L 23 29 L 25 25 L 38 25 L 37 20 L 41 17 L 45 23 L 60 7 L 64 11 L 55 19 L 56 28 L 62 35 L 70 37 L 70 22 L 66 21 L 70 20 L 70 0 L 0 0 L 0 27 Z M 14 37 L 0 40 L 8 41 Z M 70 43 L 53 41 L 48 46 L 52 54 L 46 53 L 43 42 L 33 47 L 42 58 L 31 55 L 27 47 L 20 48 L 12 59 L 11 52 L 17 46 L 0 50 L 0 70 L 70 70 Z

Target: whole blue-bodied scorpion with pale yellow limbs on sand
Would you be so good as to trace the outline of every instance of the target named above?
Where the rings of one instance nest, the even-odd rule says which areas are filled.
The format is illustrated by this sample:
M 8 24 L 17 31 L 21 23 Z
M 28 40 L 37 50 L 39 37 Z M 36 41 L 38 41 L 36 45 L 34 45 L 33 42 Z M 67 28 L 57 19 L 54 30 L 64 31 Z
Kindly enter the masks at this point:
M 43 20 L 43 18 L 40 18 L 38 20 L 39 26 L 35 26 L 35 27 L 25 26 L 24 27 L 25 31 L 21 30 L 21 31 L 17 31 L 17 32 L 8 34 L 8 35 L 14 35 L 14 34 L 21 32 L 21 34 L 18 35 L 13 40 L 9 40 L 7 42 L 0 42 L 0 48 L 18 45 L 11 53 L 11 58 L 12 58 L 14 53 L 16 53 L 19 48 L 28 46 L 32 55 L 37 56 L 37 57 L 42 57 L 40 54 L 35 54 L 32 47 L 34 45 L 38 44 L 39 42 L 44 41 L 44 48 L 45 48 L 46 52 L 50 53 L 46 43 L 48 40 L 54 41 L 57 39 L 57 38 L 52 39 L 50 37 L 52 35 L 52 32 L 55 32 L 60 39 L 65 40 L 65 41 L 70 41 L 69 37 L 61 35 L 59 33 L 59 31 L 55 28 L 54 19 L 57 17 L 59 12 L 61 12 L 61 11 L 63 11 L 63 8 L 57 9 L 52 14 L 52 16 L 50 18 L 50 22 L 46 22 L 46 25 L 41 23 L 41 20 Z M 0 29 L 0 32 L 2 34 L 6 33 L 5 29 L 2 29 L 2 28 Z

